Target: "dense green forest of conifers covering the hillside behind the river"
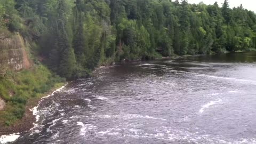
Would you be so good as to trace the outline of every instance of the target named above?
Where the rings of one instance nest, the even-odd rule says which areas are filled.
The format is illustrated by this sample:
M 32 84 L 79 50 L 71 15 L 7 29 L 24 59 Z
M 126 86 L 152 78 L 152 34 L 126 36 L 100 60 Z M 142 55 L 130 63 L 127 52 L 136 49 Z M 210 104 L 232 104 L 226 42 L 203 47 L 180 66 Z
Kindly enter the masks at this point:
M 229 7 L 227 0 L 1 0 L 0 28 L 36 42 L 38 57 L 66 78 L 114 61 L 249 51 L 256 45 L 255 13 Z

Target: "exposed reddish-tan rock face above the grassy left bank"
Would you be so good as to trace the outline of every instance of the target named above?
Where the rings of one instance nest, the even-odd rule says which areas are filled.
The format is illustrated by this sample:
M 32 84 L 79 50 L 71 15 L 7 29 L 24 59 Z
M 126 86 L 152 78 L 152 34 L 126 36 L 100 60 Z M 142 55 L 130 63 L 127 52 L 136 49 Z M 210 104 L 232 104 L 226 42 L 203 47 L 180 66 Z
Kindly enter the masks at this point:
M 25 45 L 19 34 L 0 39 L 0 74 L 4 74 L 7 69 L 19 71 L 30 67 Z

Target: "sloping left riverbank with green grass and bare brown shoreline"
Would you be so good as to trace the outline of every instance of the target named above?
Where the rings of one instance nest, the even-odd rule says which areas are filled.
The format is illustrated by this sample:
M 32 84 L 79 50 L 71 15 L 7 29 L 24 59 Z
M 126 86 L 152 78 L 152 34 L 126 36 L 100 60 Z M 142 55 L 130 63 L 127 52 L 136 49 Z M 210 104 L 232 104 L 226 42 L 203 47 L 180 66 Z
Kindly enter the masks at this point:
M 30 109 L 64 82 L 41 64 L 1 76 L 0 98 L 5 106 L 0 110 L 0 136 L 29 130 L 35 121 Z

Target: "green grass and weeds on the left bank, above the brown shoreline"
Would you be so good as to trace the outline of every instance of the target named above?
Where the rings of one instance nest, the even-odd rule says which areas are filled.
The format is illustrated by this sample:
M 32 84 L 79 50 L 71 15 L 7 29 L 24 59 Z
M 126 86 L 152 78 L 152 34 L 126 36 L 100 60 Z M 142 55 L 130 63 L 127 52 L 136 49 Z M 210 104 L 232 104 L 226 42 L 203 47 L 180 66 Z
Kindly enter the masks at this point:
M 29 99 L 40 98 L 53 87 L 63 85 L 63 82 L 65 79 L 52 74 L 43 65 L 19 73 L 7 71 L 4 77 L 0 77 L 0 97 L 6 102 L 5 109 L 0 111 L 0 122 L 12 125 L 25 114 Z

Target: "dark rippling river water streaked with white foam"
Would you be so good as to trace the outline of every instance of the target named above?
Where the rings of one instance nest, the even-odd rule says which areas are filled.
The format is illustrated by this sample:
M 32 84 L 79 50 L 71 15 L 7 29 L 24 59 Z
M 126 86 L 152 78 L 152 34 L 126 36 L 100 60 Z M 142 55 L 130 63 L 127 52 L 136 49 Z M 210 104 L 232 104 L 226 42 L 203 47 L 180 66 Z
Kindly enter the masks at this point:
M 123 63 L 70 82 L 14 143 L 256 143 L 256 53 Z

